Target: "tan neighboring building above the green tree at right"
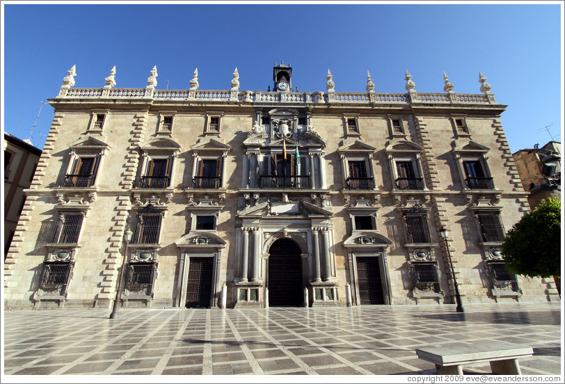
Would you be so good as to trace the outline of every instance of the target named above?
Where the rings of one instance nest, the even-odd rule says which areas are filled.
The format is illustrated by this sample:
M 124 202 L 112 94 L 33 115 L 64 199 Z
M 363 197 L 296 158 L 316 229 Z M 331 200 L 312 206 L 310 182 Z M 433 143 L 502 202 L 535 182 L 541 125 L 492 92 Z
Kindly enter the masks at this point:
M 543 199 L 561 200 L 561 143 L 550 141 L 543 147 L 519 150 L 513 154 L 518 175 L 533 209 Z

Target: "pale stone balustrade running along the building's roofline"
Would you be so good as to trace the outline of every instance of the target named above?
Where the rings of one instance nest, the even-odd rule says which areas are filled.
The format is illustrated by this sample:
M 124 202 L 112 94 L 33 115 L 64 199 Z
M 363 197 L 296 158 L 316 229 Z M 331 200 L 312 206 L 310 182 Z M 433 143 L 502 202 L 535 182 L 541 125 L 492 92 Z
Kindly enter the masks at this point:
M 152 90 L 148 88 L 67 88 L 57 99 L 170 99 L 202 102 L 253 102 L 257 104 L 498 104 L 493 95 L 457 93 L 354 93 L 263 92 L 231 90 Z

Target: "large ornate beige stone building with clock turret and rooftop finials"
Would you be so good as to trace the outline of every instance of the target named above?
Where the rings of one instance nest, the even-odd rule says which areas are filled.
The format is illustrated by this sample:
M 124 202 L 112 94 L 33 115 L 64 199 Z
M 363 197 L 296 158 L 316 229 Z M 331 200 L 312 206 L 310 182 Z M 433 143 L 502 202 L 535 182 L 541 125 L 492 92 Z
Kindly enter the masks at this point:
M 508 273 L 529 210 L 491 86 L 482 94 L 72 88 L 5 264 L 6 307 L 228 307 L 559 300 Z M 440 230 L 449 231 L 449 252 Z M 25 284 L 22 284 L 25 282 Z M 225 292 L 225 294 L 223 294 Z M 31 300 L 30 300 L 31 298 Z

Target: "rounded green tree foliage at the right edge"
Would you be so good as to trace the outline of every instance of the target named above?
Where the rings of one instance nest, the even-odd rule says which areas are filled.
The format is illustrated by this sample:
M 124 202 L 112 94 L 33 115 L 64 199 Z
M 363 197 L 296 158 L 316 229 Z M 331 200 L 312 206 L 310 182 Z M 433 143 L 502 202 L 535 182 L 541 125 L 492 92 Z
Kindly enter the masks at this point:
M 518 275 L 561 276 L 561 202 L 542 200 L 525 214 L 506 234 L 502 255 Z

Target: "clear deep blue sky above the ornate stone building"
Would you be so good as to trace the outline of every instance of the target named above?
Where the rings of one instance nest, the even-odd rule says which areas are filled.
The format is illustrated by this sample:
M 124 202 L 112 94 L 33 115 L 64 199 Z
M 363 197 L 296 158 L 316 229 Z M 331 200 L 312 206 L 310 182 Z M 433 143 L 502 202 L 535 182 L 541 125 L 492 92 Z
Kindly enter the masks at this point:
M 404 93 L 480 93 L 479 71 L 507 104 L 502 125 L 512 152 L 560 141 L 563 124 L 563 5 L 550 4 L 12 4 L 3 2 L 3 129 L 29 138 L 40 102 L 55 97 L 77 65 L 75 87 L 143 88 L 157 65 L 159 89 L 240 90 L 272 86 L 274 63 L 291 63 L 293 86 Z M 21 124 L 19 123 L 22 120 Z M 53 119 L 42 107 L 31 141 L 42 147 Z M 17 128 L 19 125 L 19 128 Z

